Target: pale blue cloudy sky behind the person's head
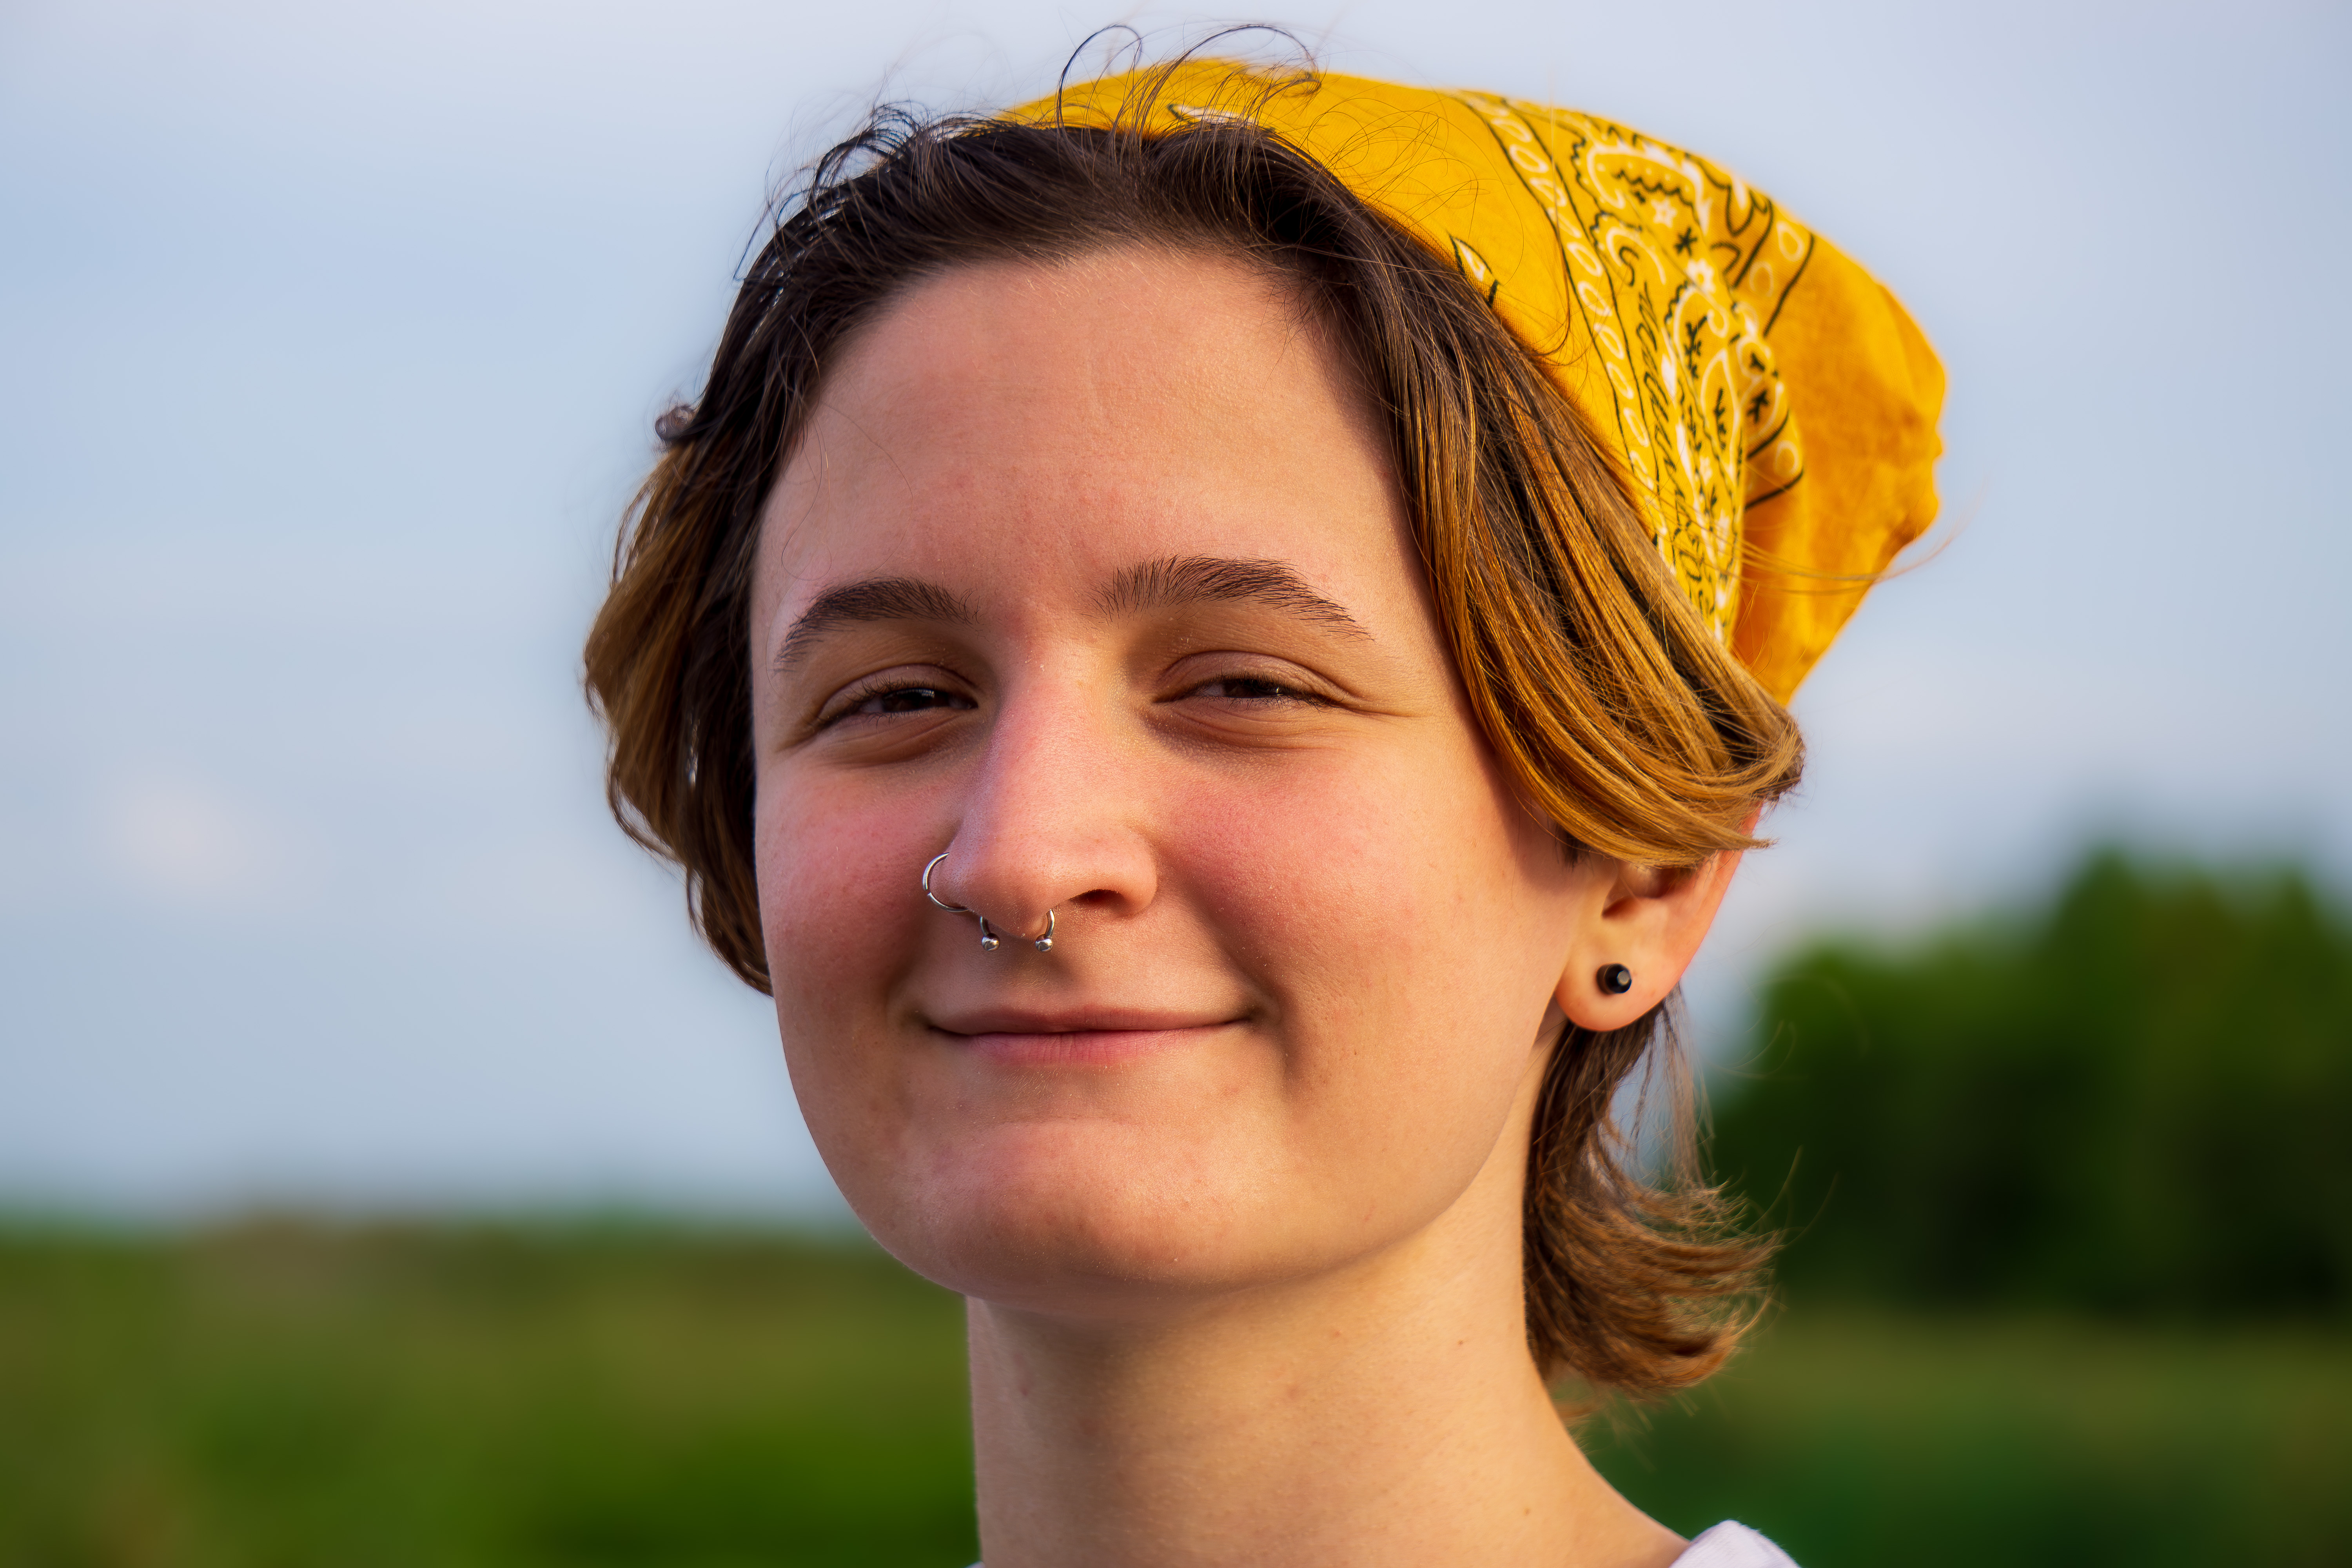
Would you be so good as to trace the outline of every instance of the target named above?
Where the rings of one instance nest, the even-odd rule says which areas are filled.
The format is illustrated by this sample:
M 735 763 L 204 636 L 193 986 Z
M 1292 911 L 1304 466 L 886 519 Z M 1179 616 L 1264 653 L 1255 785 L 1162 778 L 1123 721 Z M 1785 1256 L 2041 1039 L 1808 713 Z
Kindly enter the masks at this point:
M 576 686 L 769 188 L 1068 5 L 0 9 L 0 1204 L 830 1204 Z M 1945 355 L 1947 548 L 1799 696 L 1693 978 L 2089 835 L 2352 872 L 2352 7 L 1345 5 L 1689 143 Z

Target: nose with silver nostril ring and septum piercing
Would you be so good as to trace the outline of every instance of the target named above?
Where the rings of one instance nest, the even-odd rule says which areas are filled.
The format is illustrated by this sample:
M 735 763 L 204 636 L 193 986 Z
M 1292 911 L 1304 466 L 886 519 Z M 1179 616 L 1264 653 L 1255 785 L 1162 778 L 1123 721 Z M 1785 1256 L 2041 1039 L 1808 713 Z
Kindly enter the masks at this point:
M 964 776 L 931 891 L 1007 947 L 1131 919 L 1160 891 L 1150 795 L 1150 741 L 1115 696 L 1016 682 Z

